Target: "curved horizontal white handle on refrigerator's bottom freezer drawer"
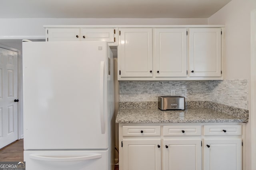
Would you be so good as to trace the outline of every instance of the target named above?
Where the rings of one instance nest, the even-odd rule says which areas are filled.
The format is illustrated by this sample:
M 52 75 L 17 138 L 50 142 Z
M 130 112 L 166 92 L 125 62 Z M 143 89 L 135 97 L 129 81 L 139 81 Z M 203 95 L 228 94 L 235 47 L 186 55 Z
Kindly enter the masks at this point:
M 101 154 L 94 154 L 88 156 L 76 156 L 76 157 L 53 157 L 53 156 L 39 156 L 35 154 L 30 154 L 29 158 L 35 160 L 43 160 L 43 161 L 58 161 L 58 162 L 66 162 L 66 161 L 82 161 L 82 160 L 91 160 L 101 158 Z

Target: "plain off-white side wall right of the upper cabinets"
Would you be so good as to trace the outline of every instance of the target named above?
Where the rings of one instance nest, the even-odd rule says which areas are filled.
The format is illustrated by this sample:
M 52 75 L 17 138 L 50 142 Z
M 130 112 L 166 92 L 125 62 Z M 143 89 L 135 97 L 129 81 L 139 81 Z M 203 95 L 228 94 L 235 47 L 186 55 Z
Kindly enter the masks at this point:
M 250 12 L 256 0 L 232 0 L 208 24 L 225 25 L 224 73 L 226 79 L 250 79 Z

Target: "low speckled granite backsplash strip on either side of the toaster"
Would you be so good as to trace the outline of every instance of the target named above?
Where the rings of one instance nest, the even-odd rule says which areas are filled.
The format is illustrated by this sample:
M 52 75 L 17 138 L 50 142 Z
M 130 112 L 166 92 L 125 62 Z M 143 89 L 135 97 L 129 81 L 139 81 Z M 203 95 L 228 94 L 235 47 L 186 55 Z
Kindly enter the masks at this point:
M 190 108 L 210 108 L 216 111 L 227 113 L 243 119 L 249 119 L 249 111 L 246 109 L 240 109 L 220 103 L 211 101 L 186 101 L 186 109 Z M 142 102 L 119 102 L 120 109 L 150 109 L 158 108 L 158 103 L 155 101 L 142 101 Z

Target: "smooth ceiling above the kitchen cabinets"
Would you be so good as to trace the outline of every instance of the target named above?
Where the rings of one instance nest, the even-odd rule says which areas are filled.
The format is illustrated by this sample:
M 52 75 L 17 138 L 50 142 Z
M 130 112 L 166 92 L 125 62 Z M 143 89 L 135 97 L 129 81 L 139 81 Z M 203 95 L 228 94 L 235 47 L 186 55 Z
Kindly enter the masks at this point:
M 209 18 L 231 0 L 0 0 L 0 18 Z

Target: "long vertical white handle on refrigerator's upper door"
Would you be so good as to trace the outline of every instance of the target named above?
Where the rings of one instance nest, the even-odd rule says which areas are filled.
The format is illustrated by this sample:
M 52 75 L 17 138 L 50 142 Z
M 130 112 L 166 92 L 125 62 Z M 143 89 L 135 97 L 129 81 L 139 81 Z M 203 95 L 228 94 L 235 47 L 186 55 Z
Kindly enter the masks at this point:
M 101 127 L 101 134 L 105 134 L 105 121 L 104 121 L 104 61 L 100 61 L 100 127 Z

